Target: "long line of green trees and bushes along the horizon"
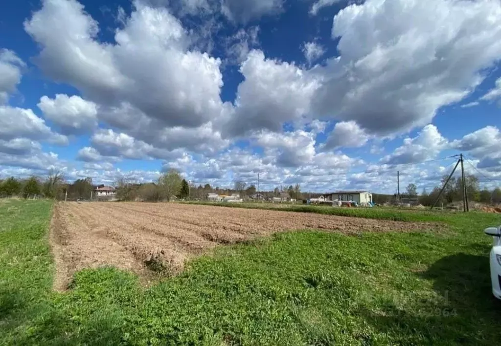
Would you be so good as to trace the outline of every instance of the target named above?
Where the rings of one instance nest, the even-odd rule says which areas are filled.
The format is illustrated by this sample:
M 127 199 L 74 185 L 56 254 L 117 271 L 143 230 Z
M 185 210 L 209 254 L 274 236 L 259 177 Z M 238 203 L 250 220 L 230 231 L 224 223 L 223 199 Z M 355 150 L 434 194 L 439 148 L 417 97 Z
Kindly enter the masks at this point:
M 412 201 L 430 206 L 437 199 L 442 186 L 447 180 L 443 176 L 440 185 L 435 186 L 430 192 L 423 189 L 420 194 L 417 193 L 415 184 L 408 184 L 400 197 L 403 202 Z M 481 203 L 501 203 L 501 189 L 496 187 L 492 190 L 480 189 L 478 178 L 472 174 L 465 176 L 466 193 L 468 200 Z M 236 180 L 233 182 L 233 188 L 212 187 L 210 184 L 189 183 L 183 179 L 180 172 L 171 169 L 162 174 L 156 182 L 137 183 L 132 179 L 125 177 L 118 178 L 115 183 L 116 197 L 125 201 L 142 200 L 146 202 L 170 201 L 173 198 L 179 199 L 199 199 L 205 200 L 209 193 L 219 195 L 239 194 L 240 198 L 248 199 L 256 196 L 257 187 L 255 184 L 247 185 L 246 182 Z M 68 183 L 60 171 L 51 170 L 45 177 L 32 176 L 27 179 L 16 179 L 10 177 L 0 180 L 0 197 L 23 197 L 23 198 L 50 198 L 64 200 L 76 200 L 78 198 L 90 199 L 93 191 L 104 185 L 94 185 L 92 178 L 77 179 L 73 183 Z M 260 191 L 263 198 L 289 197 L 296 200 L 309 198 L 308 193 L 301 192 L 299 184 L 290 186 L 277 186 L 271 191 Z M 319 193 L 312 194 L 312 197 L 319 196 Z M 373 193 L 373 201 L 377 204 L 397 203 L 397 196 L 388 194 Z M 444 189 L 438 205 L 447 205 L 462 201 L 462 180 L 461 177 L 452 177 Z

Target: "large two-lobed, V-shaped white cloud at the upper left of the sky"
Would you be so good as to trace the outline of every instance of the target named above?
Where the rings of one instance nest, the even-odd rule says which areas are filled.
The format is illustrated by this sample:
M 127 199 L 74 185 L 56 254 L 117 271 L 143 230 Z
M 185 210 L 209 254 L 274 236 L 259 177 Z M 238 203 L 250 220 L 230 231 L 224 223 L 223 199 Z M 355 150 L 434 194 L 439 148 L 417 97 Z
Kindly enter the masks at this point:
M 219 59 L 190 51 L 181 23 L 140 2 L 117 29 L 116 44 L 97 40 L 98 23 L 75 0 L 45 0 L 25 22 L 42 47 L 39 67 L 90 101 L 130 103 L 164 126 L 196 127 L 219 116 Z

